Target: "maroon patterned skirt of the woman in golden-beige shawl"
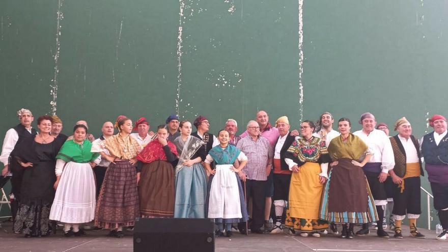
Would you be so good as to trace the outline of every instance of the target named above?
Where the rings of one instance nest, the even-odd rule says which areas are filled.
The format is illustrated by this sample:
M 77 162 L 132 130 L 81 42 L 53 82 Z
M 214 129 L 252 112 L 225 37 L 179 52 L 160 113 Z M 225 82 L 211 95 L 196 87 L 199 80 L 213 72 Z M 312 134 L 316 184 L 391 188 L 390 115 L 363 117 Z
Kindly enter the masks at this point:
M 101 186 L 95 225 L 105 229 L 133 226 L 140 217 L 137 175 L 128 160 L 110 163 Z

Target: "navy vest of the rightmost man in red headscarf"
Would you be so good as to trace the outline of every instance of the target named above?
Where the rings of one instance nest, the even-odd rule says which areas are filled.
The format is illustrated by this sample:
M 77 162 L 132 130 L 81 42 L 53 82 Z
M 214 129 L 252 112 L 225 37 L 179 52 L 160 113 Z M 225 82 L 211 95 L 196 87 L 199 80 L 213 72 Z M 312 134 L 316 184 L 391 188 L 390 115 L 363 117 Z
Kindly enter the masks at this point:
M 423 136 L 422 155 L 425 163 L 434 165 L 448 164 L 448 134 L 436 145 L 434 131 Z

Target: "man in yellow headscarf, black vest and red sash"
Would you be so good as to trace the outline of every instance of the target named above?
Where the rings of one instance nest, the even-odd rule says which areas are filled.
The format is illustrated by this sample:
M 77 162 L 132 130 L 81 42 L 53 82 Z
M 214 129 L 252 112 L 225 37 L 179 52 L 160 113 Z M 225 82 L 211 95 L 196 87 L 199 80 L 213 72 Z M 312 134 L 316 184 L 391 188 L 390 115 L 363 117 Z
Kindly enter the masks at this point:
M 278 129 L 280 135 L 275 144 L 273 159 L 275 227 L 272 229 L 271 234 L 283 233 L 282 217 L 284 208 L 288 204 L 289 184 L 292 174 L 288 164 L 285 162 L 285 153 L 295 139 L 289 132 L 290 127 L 288 117 L 286 116 L 280 117 L 275 121 L 275 128 Z

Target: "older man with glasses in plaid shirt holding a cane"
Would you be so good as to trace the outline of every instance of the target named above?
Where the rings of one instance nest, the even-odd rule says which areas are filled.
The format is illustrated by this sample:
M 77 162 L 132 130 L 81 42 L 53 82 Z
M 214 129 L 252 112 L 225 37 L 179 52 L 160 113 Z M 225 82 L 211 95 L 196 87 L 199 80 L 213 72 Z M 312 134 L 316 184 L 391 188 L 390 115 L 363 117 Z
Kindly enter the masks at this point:
M 243 137 L 236 146 L 248 158 L 240 177 L 246 183 L 246 199 L 252 197 L 251 232 L 262 234 L 266 181 L 272 170 L 274 151 L 268 139 L 261 136 L 258 122 L 249 121 L 247 132 L 248 136 Z M 240 232 L 245 233 L 245 227 L 242 227 L 241 223 L 238 226 Z

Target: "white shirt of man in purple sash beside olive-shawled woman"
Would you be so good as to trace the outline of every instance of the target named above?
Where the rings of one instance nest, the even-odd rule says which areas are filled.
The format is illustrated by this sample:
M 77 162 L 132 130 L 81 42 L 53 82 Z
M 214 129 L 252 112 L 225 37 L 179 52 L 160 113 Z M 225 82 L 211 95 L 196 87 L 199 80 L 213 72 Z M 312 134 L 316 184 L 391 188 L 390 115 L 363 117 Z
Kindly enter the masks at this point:
M 354 135 L 360 137 L 369 147 L 372 154 L 370 163 L 381 163 L 381 172 L 388 173 L 394 169 L 395 157 L 389 137 L 384 131 L 374 129 L 369 135 L 362 130 L 355 131 Z

